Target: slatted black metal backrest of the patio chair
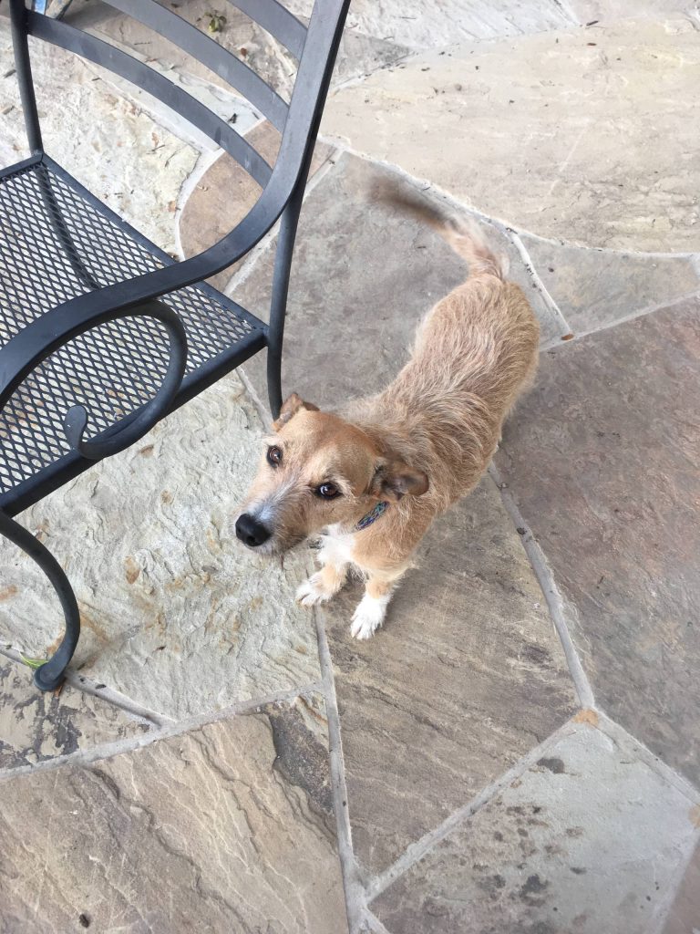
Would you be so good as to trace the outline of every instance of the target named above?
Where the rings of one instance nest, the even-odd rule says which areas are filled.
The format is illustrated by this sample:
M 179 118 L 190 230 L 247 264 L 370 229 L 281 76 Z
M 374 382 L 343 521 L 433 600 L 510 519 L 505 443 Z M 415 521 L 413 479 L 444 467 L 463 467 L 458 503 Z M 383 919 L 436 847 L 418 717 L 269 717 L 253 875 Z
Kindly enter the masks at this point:
M 285 173 L 299 175 L 304 157 L 314 144 L 315 130 L 328 91 L 330 74 L 343 31 L 349 0 L 315 0 L 308 27 L 278 0 L 230 0 L 245 16 L 282 43 L 299 62 L 289 103 L 242 59 L 156 0 L 105 0 L 110 7 L 142 22 L 186 51 L 226 81 L 283 134 L 277 163 Z M 165 106 L 225 149 L 261 188 L 273 168 L 234 127 L 163 74 L 103 39 L 48 16 L 25 9 L 24 0 L 10 0 L 15 32 L 18 77 L 32 149 L 41 149 L 26 36 L 32 35 L 101 65 L 158 98 Z M 24 55 L 21 54 L 23 47 Z M 20 54 L 18 54 L 18 50 Z M 22 61 L 24 59 L 25 61 Z M 23 85 L 23 87 L 22 87 Z M 289 140 L 301 134 L 305 138 Z M 286 138 L 287 137 L 287 138 Z M 288 145 L 289 142 L 294 145 Z M 285 145 L 287 143 L 287 145 Z M 276 163 L 275 163 L 276 167 Z

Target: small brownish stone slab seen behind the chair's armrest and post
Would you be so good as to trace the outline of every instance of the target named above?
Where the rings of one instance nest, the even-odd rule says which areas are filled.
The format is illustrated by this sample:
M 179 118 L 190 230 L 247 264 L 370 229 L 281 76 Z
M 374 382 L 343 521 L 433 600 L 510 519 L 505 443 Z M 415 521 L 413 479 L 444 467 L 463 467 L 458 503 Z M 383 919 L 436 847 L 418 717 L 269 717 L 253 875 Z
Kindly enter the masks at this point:
M 277 158 L 281 136 L 267 120 L 260 123 L 245 137 L 262 158 L 273 165 Z M 309 177 L 313 177 L 332 152 L 324 143 L 317 143 Z M 204 172 L 183 205 L 178 219 L 180 248 L 186 258 L 213 247 L 221 237 L 245 218 L 259 199 L 262 189 L 228 153 Z M 218 290 L 224 290 L 239 262 L 212 276 L 208 281 Z

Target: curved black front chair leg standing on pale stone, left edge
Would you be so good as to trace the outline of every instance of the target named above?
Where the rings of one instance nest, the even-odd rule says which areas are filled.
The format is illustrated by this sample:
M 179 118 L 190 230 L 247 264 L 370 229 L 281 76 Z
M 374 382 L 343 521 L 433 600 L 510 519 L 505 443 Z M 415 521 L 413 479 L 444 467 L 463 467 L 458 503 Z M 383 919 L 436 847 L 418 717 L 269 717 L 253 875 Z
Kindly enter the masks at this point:
M 34 672 L 35 685 L 42 691 L 52 691 L 63 684 L 65 669 L 73 658 L 80 636 L 80 614 L 77 609 L 76 595 L 61 565 L 49 549 L 42 545 L 31 531 L 22 528 L 18 522 L 2 512 L 0 512 L 0 535 L 4 535 L 14 545 L 18 545 L 38 564 L 49 578 L 51 586 L 61 601 L 65 617 L 63 640 L 49 661 Z

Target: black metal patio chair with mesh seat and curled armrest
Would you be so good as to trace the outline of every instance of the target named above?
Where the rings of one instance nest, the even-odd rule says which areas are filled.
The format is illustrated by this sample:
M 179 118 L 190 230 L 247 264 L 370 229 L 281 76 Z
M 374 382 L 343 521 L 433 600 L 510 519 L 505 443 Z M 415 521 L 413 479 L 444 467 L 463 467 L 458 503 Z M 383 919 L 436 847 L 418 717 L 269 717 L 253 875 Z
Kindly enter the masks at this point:
M 270 406 L 273 416 L 279 412 L 294 238 L 349 0 L 316 0 L 308 28 L 277 0 L 231 0 L 298 60 L 288 104 L 243 61 L 155 0 L 107 3 L 205 64 L 282 136 L 271 168 L 229 123 L 147 64 L 10 0 L 32 155 L 0 172 L 0 534 L 35 560 L 63 607 L 63 641 L 35 670 L 42 690 L 63 682 L 80 619 L 58 562 L 13 516 L 133 445 L 263 348 Z M 245 218 L 215 246 L 175 262 L 86 191 L 44 151 L 30 35 L 128 79 L 226 150 L 262 189 Z M 280 217 L 264 324 L 203 279 L 243 257 Z

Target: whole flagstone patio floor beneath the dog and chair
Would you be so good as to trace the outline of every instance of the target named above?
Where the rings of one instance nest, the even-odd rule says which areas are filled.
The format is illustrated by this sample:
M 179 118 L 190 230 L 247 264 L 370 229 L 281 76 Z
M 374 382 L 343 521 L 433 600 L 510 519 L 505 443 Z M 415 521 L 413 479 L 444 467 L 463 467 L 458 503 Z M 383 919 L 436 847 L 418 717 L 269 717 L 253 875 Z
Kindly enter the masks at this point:
M 217 40 L 284 88 L 284 51 L 224 12 Z M 68 21 L 274 151 L 218 78 L 122 14 L 75 0 Z M 11 67 L 0 19 L 6 163 L 23 151 Z M 163 248 L 197 252 L 255 200 L 96 67 L 37 49 L 35 78 L 49 153 Z M 21 516 L 69 573 L 83 635 L 63 689 L 37 693 L 22 657 L 60 613 L 0 544 L 3 934 L 700 932 L 698 78 L 684 0 L 355 0 L 285 385 L 322 407 L 379 389 L 467 273 L 372 203 L 390 173 L 509 256 L 541 324 L 536 386 L 369 642 L 349 633 L 357 584 L 304 610 L 313 550 L 264 560 L 231 533 L 262 361 Z M 260 318 L 274 236 L 217 276 Z

